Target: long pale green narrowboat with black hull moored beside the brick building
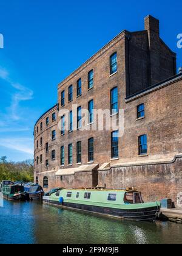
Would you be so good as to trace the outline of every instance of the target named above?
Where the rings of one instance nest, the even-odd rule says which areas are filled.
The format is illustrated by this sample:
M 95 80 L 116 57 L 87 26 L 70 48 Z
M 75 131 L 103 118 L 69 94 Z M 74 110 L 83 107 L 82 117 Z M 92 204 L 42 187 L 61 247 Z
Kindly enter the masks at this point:
M 136 221 L 155 221 L 160 214 L 160 202 L 144 203 L 135 188 L 61 189 L 45 194 L 44 204 L 72 208 L 100 215 Z

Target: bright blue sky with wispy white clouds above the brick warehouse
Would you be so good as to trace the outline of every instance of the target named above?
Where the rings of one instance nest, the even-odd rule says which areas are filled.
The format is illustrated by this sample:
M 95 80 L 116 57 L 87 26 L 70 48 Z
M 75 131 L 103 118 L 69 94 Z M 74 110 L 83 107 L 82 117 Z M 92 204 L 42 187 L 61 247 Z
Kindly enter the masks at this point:
M 33 158 L 33 126 L 57 84 L 121 30 L 143 30 L 148 14 L 182 65 L 181 9 L 180 0 L 0 0 L 0 156 Z

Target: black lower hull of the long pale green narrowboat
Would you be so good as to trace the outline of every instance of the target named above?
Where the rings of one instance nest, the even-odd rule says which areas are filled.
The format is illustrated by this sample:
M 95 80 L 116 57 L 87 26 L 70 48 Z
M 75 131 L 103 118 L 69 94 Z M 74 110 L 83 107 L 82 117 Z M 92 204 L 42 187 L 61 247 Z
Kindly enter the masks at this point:
M 59 201 L 51 201 L 44 198 L 43 202 L 45 204 L 54 205 L 58 207 L 72 208 L 75 210 L 82 210 L 84 212 L 98 213 L 100 215 L 112 216 L 115 218 L 129 219 L 135 221 L 155 221 L 160 208 L 156 207 L 146 207 L 135 210 L 124 210 L 118 208 L 109 207 L 98 207 L 95 205 L 84 205 L 84 204 L 74 204 L 70 202 L 60 203 Z

